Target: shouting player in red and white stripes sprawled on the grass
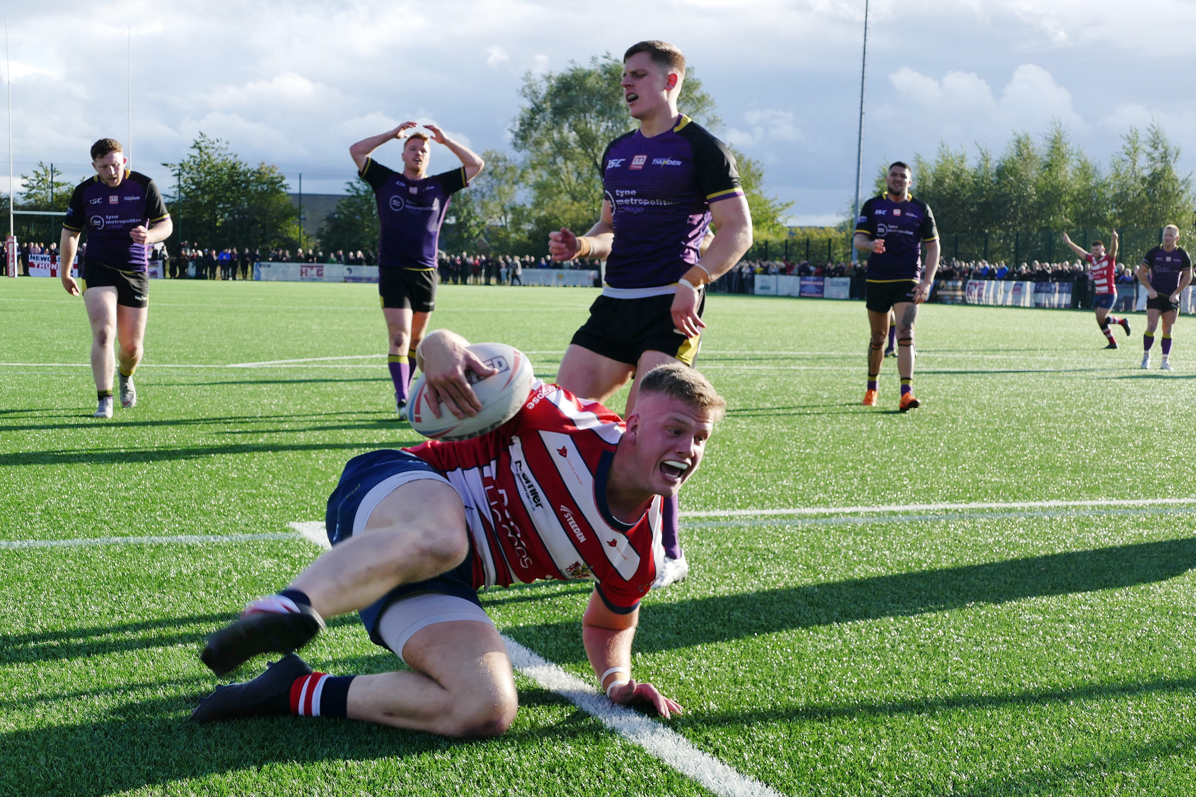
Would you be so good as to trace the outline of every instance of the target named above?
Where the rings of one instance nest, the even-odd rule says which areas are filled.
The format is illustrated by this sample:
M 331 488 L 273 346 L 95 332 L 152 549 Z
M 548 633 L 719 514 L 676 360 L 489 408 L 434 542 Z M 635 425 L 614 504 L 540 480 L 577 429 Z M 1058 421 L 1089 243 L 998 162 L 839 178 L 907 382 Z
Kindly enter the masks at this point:
M 465 345 L 440 330 L 417 352 L 429 390 L 458 417 L 478 407 L 465 370 L 493 373 Z M 664 565 L 661 496 L 697 470 L 724 407 L 703 376 L 671 363 L 641 378 L 626 422 L 537 384 L 514 418 L 481 437 L 349 460 L 328 502 L 332 550 L 250 603 L 202 657 L 222 674 L 257 654 L 287 655 L 252 681 L 218 687 L 193 719 L 324 715 L 501 734 L 518 707 L 514 679 L 476 590 L 538 578 L 594 582 L 581 637 L 612 701 L 682 711 L 631 679 L 631 639 L 640 599 Z M 414 672 L 337 678 L 288 652 L 323 618 L 353 611 Z

